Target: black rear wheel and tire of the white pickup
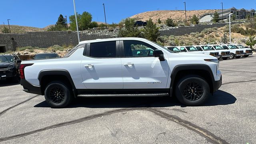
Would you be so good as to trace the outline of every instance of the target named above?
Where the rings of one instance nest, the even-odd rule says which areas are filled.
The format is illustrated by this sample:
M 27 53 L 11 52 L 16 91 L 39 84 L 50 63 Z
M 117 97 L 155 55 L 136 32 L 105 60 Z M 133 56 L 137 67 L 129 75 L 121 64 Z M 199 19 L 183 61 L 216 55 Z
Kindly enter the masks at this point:
M 66 84 L 54 81 L 46 86 L 44 98 L 51 108 L 64 108 L 72 102 L 73 95 Z

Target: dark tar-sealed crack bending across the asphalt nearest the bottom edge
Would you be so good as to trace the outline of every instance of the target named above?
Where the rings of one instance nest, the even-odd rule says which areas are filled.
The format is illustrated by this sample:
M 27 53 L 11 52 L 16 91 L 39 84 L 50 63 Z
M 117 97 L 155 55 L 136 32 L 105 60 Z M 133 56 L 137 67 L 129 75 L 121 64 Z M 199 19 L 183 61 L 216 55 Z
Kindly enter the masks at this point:
M 30 134 L 34 134 L 34 133 L 37 133 L 37 132 L 42 132 L 44 130 L 49 130 L 49 129 L 58 128 L 58 127 L 62 127 L 62 126 L 68 126 L 68 125 L 71 125 L 71 124 L 76 124 L 76 123 L 84 122 L 84 121 L 87 121 L 87 120 L 92 120 L 92 119 L 95 119 L 95 118 L 115 114 L 115 113 L 118 113 L 118 112 L 127 112 L 127 111 L 134 111 L 134 110 L 146 110 L 146 111 L 149 111 L 149 112 L 153 112 L 154 114 L 156 114 L 158 116 L 161 116 L 162 118 L 165 118 L 167 120 L 172 120 L 173 122 L 176 122 L 177 124 L 180 124 L 181 126 L 200 134 L 201 136 L 206 138 L 206 140 L 208 140 L 211 143 L 214 143 L 214 144 L 228 144 L 228 142 L 221 139 L 220 137 L 215 136 L 211 132 L 209 132 L 209 131 L 207 131 L 203 128 L 200 128 L 199 126 L 196 126 L 196 125 L 192 124 L 191 122 L 182 120 L 181 118 L 178 118 L 178 116 L 169 115 L 165 112 L 162 112 L 162 111 L 154 109 L 154 108 L 121 108 L 121 109 L 117 109 L 117 110 L 110 110 L 110 111 L 103 112 L 103 113 L 100 113 L 100 114 L 94 114 L 94 115 L 86 116 L 86 117 L 79 118 L 79 119 L 76 119 L 76 120 L 71 120 L 71 121 L 68 121 L 68 122 L 62 122 L 62 123 L 59 123 L 59 124 L 54 124 L 54 125 L 51 125 L 51 126 L 40 128 L 38 130 L 33 130 L 31 132 L 26 132 L 26 133 L 23 133 L 23 134 L 17 134 L 17 135 L 13 135 L 13 136 L 7 136 L 7 137 L 4 137 L 4 138 L 0 138 L 0 142 L 6 141 L 6 140 L 12 140 L 12 139 L 15 139 L 15 138 L 21 138 L 21 137 L 24 137 L 24 136 L 28 136 Z

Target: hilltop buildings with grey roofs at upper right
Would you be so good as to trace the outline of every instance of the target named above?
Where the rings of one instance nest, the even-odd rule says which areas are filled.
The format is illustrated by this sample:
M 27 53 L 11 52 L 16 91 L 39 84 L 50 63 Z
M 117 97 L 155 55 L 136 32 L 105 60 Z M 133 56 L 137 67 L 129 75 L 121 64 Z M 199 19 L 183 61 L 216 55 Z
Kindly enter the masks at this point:
M 235 7 L 225 9 L 223 10 L 223 15 L 222 15 L 222 10 L 217 12 L 219 14 L 219 19 L 220 20 L 226 20 L 229 18 L 229 14 L 233 13 L 236 16 L 236 19 L 244 19 L 247 16 L 254 16 L 256 11 L 254 9 L 251 10 L 246 10 L 244 8 L 241 9 L 236 9 Z M 203 16 L 200 17 L 199 22 L 210 22 L 212 20 L 213 14 L 208 13 L 204 14 Z

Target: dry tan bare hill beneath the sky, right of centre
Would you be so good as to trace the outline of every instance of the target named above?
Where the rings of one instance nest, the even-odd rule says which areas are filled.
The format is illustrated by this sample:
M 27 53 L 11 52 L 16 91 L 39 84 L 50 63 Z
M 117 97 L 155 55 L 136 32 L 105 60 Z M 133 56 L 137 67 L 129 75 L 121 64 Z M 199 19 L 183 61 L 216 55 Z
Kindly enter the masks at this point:
M 200 17 L 206 13 L 214 13 L 216 10 L 187 10 L 187 20 L 189 20 L 189 16 L 195 14 L 196 16 Z M 185 20 L 185 11 L 184 10 L 156 10 L 156 11 L 149 11 L 143 12 L 140 14 L 136 14 L 131 16 L 130 18 L 135 18 L 136 20 L 146 21 L 149 18 L 152 18 L 153 22 L 157 22 L 158 18 L 161 21 L 165 21 L 167 18 L 172 18 L 174 21 L 184 21 Z

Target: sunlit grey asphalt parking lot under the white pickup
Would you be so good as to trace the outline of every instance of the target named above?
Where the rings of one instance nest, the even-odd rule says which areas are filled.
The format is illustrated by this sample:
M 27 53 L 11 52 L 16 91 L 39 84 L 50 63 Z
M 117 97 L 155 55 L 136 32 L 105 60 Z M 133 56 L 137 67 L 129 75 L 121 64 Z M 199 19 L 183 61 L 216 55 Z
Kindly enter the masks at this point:
M 0 144 L 255 144 L 256 54 L 220 61 L 222 86 L 203 106 L 175 98 L 79 98 L 49 108 L 44 96 L 0 81 Z

